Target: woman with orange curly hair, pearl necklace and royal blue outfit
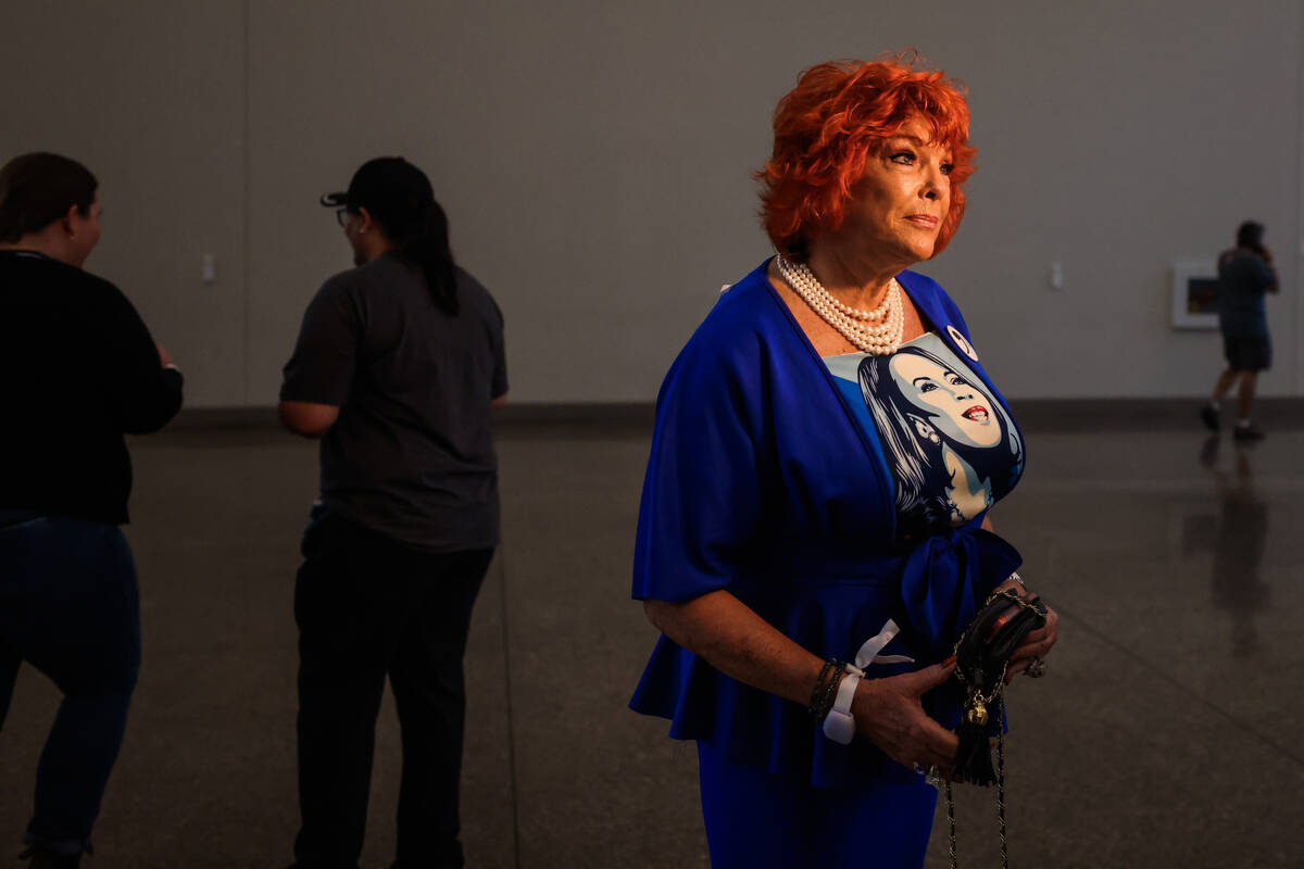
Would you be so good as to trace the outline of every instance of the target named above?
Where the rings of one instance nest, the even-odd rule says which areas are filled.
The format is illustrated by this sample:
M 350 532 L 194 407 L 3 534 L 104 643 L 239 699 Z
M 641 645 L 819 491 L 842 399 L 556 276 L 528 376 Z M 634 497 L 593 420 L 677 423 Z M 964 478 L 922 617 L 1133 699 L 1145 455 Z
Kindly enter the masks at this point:
M 1021 562 L 987 513 L 1022 433 L 960 310 L 906 271 L 960 225 L 968 137 L 940 72 L 807 70 L 758 172 L 778 255 L 661 387 L 634 597 L 665 636 L 630 705 L 698 741 L 713 866 L 923 861 L 960 714 L 935 689 Z

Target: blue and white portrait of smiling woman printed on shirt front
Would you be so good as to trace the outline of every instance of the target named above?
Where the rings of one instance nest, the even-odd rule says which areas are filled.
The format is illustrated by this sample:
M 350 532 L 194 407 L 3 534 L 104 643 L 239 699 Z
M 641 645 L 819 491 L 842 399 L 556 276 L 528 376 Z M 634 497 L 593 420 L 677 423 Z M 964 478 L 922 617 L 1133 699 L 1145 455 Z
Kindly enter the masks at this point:
M 923 335 L 892 356 L 866 356 L 858 378 L 893 465 L 904 533 L 966 522 L 1018 482 L 1018 430 L 936 335 Z

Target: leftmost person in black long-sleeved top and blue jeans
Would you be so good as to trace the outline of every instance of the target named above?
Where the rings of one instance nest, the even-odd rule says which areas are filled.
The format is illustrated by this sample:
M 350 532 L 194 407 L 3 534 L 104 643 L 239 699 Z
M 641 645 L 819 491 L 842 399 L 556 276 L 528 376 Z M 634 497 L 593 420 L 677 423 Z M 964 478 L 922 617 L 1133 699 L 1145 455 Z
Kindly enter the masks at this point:
M 0 724 L 27 661 L 64 693 L 23 840 L 78 865 L 117 758 L 141 658 L 124 434 L 162 429 L 181 374 L 126 297 L 82 270 L 98 182 L 55 154 L 0 168 Z

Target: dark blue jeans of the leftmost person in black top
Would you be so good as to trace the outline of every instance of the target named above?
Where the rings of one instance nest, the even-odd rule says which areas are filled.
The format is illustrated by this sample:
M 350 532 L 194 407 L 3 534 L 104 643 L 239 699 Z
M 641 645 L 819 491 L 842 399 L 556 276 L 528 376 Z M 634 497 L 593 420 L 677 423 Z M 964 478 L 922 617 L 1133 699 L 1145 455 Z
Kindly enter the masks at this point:
M 89 851 L 141 666 L 136 564 L 115 525 L 0 516 L 0 726 L 22 661 L 64 693 L 23 840 Z

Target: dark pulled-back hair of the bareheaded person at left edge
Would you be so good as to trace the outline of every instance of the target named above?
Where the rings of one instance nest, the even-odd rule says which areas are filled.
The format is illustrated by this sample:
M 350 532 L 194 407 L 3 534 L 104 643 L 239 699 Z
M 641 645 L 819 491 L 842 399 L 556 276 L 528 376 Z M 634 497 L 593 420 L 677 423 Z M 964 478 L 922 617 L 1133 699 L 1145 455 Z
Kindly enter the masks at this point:
M 0 241 L 40 232 L 74 206 L 90 214 L 98 189 L 90 169 L 67 156 L 37 151 L 13 158 L 0 168 Z

